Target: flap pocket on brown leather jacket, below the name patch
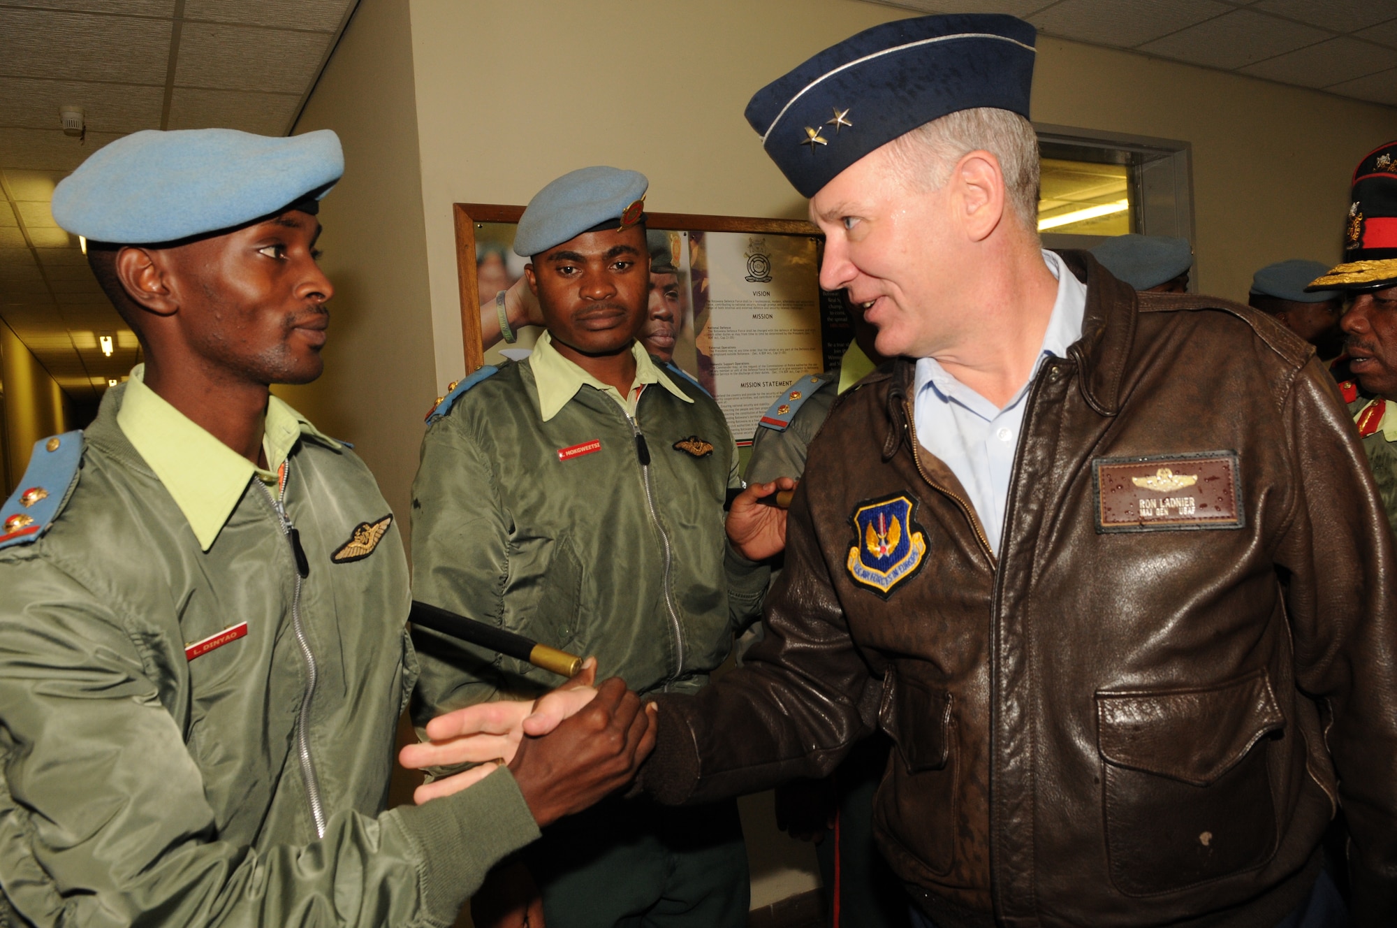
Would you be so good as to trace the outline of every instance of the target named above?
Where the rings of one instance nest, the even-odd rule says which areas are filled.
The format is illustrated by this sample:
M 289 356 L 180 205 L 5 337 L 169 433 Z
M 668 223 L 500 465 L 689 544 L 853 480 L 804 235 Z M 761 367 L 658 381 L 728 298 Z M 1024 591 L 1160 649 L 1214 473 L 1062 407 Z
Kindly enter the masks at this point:
M 1267 764 L 1285 727 L 1264 671 L 1208 689 L 1097 693 L 1111 878 L 1166 893 L 1275 851 Z

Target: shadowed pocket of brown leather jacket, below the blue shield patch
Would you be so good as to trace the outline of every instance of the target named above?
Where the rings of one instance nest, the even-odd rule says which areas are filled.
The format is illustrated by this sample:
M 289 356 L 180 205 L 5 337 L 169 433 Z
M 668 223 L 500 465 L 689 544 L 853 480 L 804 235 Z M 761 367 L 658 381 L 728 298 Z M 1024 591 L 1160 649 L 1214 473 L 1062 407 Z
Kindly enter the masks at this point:
M 890 671 L 879 725 L 897 745 L 875 799 L 876 830 L 891 834 L 893 855 L 912 869 L 944 876 L 956 862 L 961 797 L 956 718 L 949 692 Z

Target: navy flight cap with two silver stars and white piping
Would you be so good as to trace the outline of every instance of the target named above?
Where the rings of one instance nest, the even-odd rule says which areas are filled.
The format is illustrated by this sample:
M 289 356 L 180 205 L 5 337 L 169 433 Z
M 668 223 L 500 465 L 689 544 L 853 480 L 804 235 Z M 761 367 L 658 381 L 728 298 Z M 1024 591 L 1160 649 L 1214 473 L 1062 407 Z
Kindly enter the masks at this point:
M 834 45 L 747 103 L 747 122 L 796 190 L 923 123 L 992 106 L 1028 117 L 1037 31 L 1000 14 L 884 22 Z

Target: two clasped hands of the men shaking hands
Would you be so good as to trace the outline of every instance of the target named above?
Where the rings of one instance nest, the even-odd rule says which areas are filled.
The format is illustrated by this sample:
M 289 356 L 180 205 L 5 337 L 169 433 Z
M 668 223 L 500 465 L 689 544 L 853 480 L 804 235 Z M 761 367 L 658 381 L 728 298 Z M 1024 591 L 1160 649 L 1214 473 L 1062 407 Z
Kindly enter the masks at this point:
M 404 767 L 478 764 L 418 787 L 414 799 L 460 792 L 502 764 L 539 827 L 581 812 L 630 783 L 655 746 L 654 703 L 641 704 L 619 678 L 594 688 L 597 660 L 532 702 L 479 703 L 427 723 L 423 744 L 398 755 Z

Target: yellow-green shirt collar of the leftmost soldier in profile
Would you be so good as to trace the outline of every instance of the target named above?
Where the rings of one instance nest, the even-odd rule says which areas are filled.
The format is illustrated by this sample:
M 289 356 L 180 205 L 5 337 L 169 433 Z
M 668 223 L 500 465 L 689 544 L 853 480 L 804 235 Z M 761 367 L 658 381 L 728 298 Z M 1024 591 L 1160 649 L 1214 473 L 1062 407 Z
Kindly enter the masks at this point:
M 116 423 L 169 491 L 204 551 L 218 538 L 251 477 L 277 484 L 277 468 L 302 435 L 339 447 L 284 401 L 268 397 L 263 451 L 271 470 L 264 471 L 147 387 L 145 365 L 131 370 Z

